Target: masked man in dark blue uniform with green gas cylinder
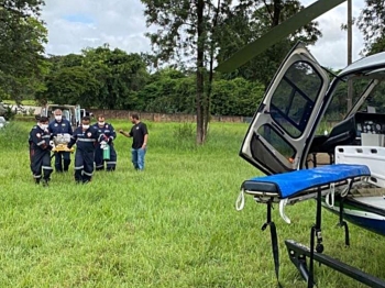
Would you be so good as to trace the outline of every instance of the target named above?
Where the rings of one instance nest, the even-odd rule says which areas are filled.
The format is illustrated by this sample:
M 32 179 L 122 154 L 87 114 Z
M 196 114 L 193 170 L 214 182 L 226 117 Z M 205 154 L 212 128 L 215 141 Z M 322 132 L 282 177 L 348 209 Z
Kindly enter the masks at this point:
M 98 130 L 99 134 L 103 134 L 102 141 L 107 142 L 110 146 L 110 158 L 105 160 L 102 144 L 98 143 L 95 151 L 95 168 L 96 170 L 103 170 L 106 162 L 106 170 L 113 171 L 117 167 L 118 158 L 117 152 L 113 147 L 113 141 L 117 139 L 117 133 L 113 126 L 106 122 L 103 115 L 98 117 L 98 123 L 94 124 L 94 126 Z

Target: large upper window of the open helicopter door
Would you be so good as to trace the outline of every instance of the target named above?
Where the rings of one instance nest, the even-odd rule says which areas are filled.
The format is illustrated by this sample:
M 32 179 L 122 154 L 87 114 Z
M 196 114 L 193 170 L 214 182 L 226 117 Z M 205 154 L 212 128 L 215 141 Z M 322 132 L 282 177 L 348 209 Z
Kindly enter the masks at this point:
M 294 63 L 279 82 L 271 114 L 292 137 L 304 133 L 321 87 L 321 76 L 306 62 Z

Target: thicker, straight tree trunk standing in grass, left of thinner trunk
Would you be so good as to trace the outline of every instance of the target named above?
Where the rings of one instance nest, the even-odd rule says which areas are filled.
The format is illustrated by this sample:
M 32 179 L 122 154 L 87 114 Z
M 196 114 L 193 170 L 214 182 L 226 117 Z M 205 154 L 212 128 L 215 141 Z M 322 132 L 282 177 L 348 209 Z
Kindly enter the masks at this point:
M 205 111 L 204 111 L 204 97 L 205 97 L 205 27 L 204 27 L 204 0 L 198 0 L 197 4 L 197 16 L 198 16 L 198 47 L 197 47 L 197 144 L 201 145 L 205 142 Z

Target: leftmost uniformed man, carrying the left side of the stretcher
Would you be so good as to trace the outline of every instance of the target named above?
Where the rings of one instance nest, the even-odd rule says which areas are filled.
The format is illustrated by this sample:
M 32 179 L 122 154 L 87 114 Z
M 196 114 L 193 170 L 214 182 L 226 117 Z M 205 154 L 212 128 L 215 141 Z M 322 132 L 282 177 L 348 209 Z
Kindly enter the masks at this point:
M 53 168 L 51 167 L 51 133 L 48 132 L 48 118 L 41 117 L 37 124 L 30 132 L 30 160 L 33 178 L 40 184 L 47 186 L 51 180 Z M 43 175 L 42 175 L 43 170 Z

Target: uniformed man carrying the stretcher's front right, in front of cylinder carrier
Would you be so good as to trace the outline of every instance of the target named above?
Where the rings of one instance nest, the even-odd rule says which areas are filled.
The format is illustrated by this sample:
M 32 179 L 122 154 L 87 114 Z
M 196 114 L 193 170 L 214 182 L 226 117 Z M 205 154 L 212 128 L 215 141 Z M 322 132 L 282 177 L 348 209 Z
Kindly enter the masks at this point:
M 101 141 L 98 130 L 89 124 L 90 118 L 81 118 L 81 125 L 78 126 L 67 147 L 72 148 L 76 144 L 75 153 L 75 181 L 89 182 L 94 174 L 94 158 L 97 143 Z

